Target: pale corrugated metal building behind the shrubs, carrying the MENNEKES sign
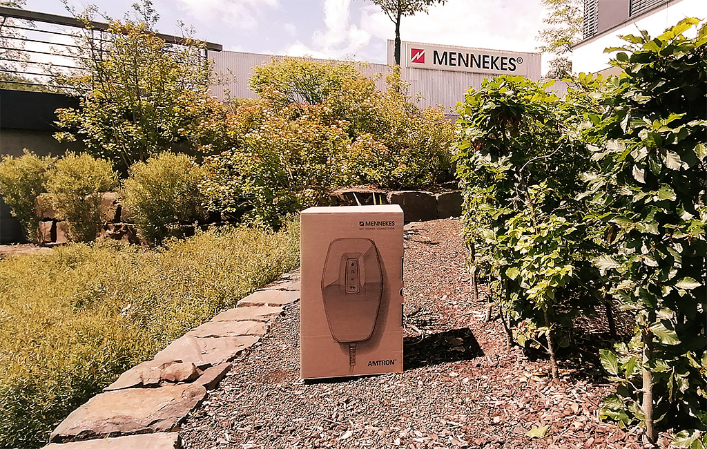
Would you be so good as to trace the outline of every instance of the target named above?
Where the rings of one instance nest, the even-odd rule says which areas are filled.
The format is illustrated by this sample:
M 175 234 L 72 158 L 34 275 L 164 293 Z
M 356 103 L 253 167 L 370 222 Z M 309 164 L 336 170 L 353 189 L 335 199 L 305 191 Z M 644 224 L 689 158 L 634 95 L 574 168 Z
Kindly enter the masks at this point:
M 387 62 L 393 62 L 394 42 L 387 42 Z M 431 45 L 422 42 L 402 42 L 401 48 L 402 78 L 410 84 L 410 94 L 419 98 L 420 107 L 441 105 L 447 114 L 455 114 L 456 104 L 464 100 L 464 93 L 469 86 L 479 88 L 484 78 L 498 74 L 516 74 L 534 81 L 540 79 L 541 59 L 539 53 L 506 52 L 493 49 L 469 47 L 451 47 Z M 284 56 L 245 53 L 245 52 L 209 52 L 214 61 L 214 71 L 221 78 L 221 83 L 211 88 L 211 95 L 225 98 L 256 98 L 248 88 L 248 79 L 252 76 L 252 67 L 269 64 L 273 59 Z M 329 59 L 313 59 L 332 62 Z M 357 63 L 364 76 L 375 79 L 375 85 L 386 88 L 385 64 Z

